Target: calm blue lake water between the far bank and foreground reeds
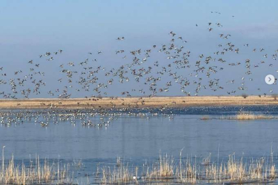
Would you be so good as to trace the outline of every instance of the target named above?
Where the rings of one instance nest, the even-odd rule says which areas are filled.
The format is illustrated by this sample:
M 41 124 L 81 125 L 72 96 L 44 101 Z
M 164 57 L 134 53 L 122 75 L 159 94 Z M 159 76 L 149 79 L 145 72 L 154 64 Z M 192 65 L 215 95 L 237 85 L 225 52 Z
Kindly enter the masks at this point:
M 227 159 L 229 154 L 258 158 L 268 156 L 272 150 L 278 153 L 277 120 L 220 120 L 238 111 L 253 113 L 278 114 L 278 106 L 247 107 L 202 107 L 159 110 L 145 110 L 145 115 L 126 114 L 124 111 L 113 115 L 114 120 L 108 127 L 83 126 L 83 120 L 99 122 L 108 115 L 83 112 L 81 120 L 76 116 L 75 125 L 69 120 L 54 124 L 57 112 L 39 111 L 23 124 L 0 124 L 0 145 L 6 145 L 5 155 L 15 155 L 15 159 L 29 159 L 39 154 L 41 158 L 72 161 L 82 159 L 81 176 L 91 174 L 97 163 L 115 163 L 120 156 L 126 161 L 142 163 L 145 159 L 156 159 L 158 154 L 183 156 L 206 156 L 211 152 L 212 159 L 218 154 Z M 22 113 L 22 111 L 2 111 Z M 26 115 L 37 113 L 28 111 Z M 158 115 L 152 113 L 158 112 Z M 160 112 L 160 113 L 159 113 Z M 111 112 L 112 113 L 112 112 Z M 54 116 L 54 114 L 56 116 Z M 9 115 L 10 117 L 13 116 Z M 204 116 L 210 120 L 201 120 Z M 2 115 L 3 117 L 3 115 Z M 42 127 L 35 120 L 49 119 L 48 127 Z M 65 118 L 59 115 L 58 118 Z M 218 153 L 219 152 L 219 153 Z M 276 161 L 276 157 L 275 157 Z

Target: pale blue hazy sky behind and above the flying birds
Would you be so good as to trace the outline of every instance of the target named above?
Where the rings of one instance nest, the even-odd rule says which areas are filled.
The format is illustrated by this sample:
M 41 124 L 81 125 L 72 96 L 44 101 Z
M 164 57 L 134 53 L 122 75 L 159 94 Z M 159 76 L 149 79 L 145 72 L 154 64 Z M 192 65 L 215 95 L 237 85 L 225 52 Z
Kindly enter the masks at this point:
M 246 92 L 237 91 L 236 95 L 241 93 L 260 94 L 277 92 L 276 85 L 266 85 L 264 77 L 267 74 L 273 74 L 278 77 L 276 70 L 277 61 L 272 61 L 272 54 L 278 49 L 278 1 L 77 1 L 77 0 L 26 0 L 13 1 L 2 0 L 0 3 L 0 67 L 3 70 L 0 74 L 3 79 L 9 83 L 10 79 L 24 78 L 30 74 L 31 66 L 28 61 L 40 63 L 40 70 L 45 72 L 45 76 L 38 77 L 47 83 L 42 87 L 40 95 L 30 95 L 30 97 L 49 97 L 49 90 L 55 91 L 69 86 L 68 83 L 59 83 L 57 79 L 67 78 L 61 74 L 59 65 L 70 62 L 76 63 L 72 70 L 81 71 L 82 67 L 78 63 L 85 61 L 86 58 L 97 58 L 97 63 L 92 63 L 93 67 L 101 66 L 106 68 L 118 68 L 132 62 L 130 56 L 126 60 L 115 56 L 117 49 L 124 49 L 127 53 L 136 49 L 150 49 L 152 45 L 161 46 L 170 43 L 170 31 L 182 36 L 187 40 L 184 44 L 185 51 L 190 50 L 190 63 L 194 66 L 198 61 L 198 56 L 211 55 L 218 51 L 218 45 L 223 46 L 231 41 L 240 48 L 240 54 L 225 54 L 223 58 L 227 63 L 242 63 L 237 67 L 224 67 L 223 72 L 213 74 L 213 78 L 221 79 L 224 90 L 213 92 L 211 90 L 202 90 L 199 95 L 227 95 L 228 91 L 240 86 L 240 79 L 253 79 L 247 81 Z M 218 13 L 211 13 L 219 12 Z M 213 31 L 208 31 L 208 22 L 213 22 Z M 223 26 L 218 28 L 215 23 L 221 23 Z M 195 26 L 197 24 L 198 26 Z M 219 34 L 231 34 L 231 40 L 220 40 Z M 118 41 L 116 38 L 124 36 L 124 40 Z M 177 41 L 177 38 L 176 38 Z M 249 44 L 249 47 L 243 45 Z M 252 52 L 252 49 L 264 48 L 265 51 L 259 53 Z M 47 51 L 54 52 L 63 49 L 63 53 L 54 58 L 54 61 L 46 61 L 45 58 L 39 58 L 40 54 Z M 156 49 L 157 50 L 157 49 Z M 102 51 L 97 55 L 97 51 Z M 92 52 L 92 56 L 88 55 Z M 268 54 L 268 58 L 263 58 Z M 213 56 L 215 57 L 215 56 Z M 217 56 L 220 58 L 220 56 Z M 252 68 L 252 74 L 246 76 L 245 60 L 251 59 L 251 65 L 254 66 L 260 61 L 265 60 L 265 65 Z M 165 56 L 158 53 L 152 53 L 145 67 L 159 61 L 166 65 L 168 63 Z M 172 61 L 171 61 L 172 63 Z M 269 67 L 273 64 L 273 67 Z M 218 67 L 222 64 L 217 63 Z M 153 68 L 155 68 L 152 65 Z M 69 67 L 67 67 L 69 68 Z M 21 74 L 16 76 L 14 72 L 22 70 Z M 158 72 L 159 69 L 154 69 Z M 103 72 L 103 74 L 105 73 Z M 174 72 L 174 70 L 173 70 Z M 188 74 L 193 70 L 179 70 L 179 74 L 190 79 Z M 21 75 L 21 76 L 20 76 Z M 99 74 L 100 75 L 100 74 Z M 104 75 L 102 75 L 104 76 Z M 105 82 L 104 77 L 99 76 L 99 83 Z M 154 74 L 155 76 L 155 74 Z M 204 81 L 205 74 L 199 74 Z M 198 77 L 198 78 L 199 78 Z M 35 78 L 35 77 L 34 77 Z M 36 77 L 37 78 L 37 77 Z M 37 78 L 37 79 L 38 79 Z M 163 77 L 161 83 L 173 81 L 172 77 Z M 226 81 L 236 79 L 236 84 L 226 84 Z M 110 78 L 108 78 L 110 79 Z M 78 75 L 74 76 L 74 81 L 78 81 Z M 194 81 L 194 79 L 191 79 Z M 174 83 L 174 81 L 173 81 Z M 205 82 L 204 82 L 205 83 Z M 108 96 L 120 96 L 121 92 L 131 91 L 136 88 L 133 95 L 141 95 L 139 89 L 148 89 L 143 82 L 136 83 L 133 80 L 128 83 L 116 83 L 106 91 Z M 191 83 L 193 84 L 193 83 Z M 161 84 L 162 86 L 162 84 Z M 18 87 L 18 86 L 17 86 Z M 33 89 L 33 84 L 26 81 L 24 87 Z M 226 88 L 227 87 L 227 88 Z M 74 89 L 80 88 L 74 86 Z M 95 87 L 94 87 L 95 88 Z M 188 92 L 194 95 L 196 86 L 188 87 Z M 260 88 L 262 91 L 258 91 Z M 91 86 L 90 91 L 76 92 L 72 90 L 73 97 L 84 97 L 87 95 L 97 95 Z M 0 84 L 0 92 L 4 95 L 11 93 L 8 84 Z M 20 94 L 20 90 L 19 94 Z M 270 92 L 271 91 L 271 92 Z M 24 97 L 21 95 L 17 97 Z M 59 93 L 56 93 L 57 95 Z M 101 94 L 104 95 L 104 94 Z M 147 94 L 146 94 L 147 95 Z M 179 86 L 172 86 L 167 93 L 158 95 L 183 95 Z M 1 95 L 0 95 L 1 97 Z M 57 97 L 57 96 L 56 96 Z

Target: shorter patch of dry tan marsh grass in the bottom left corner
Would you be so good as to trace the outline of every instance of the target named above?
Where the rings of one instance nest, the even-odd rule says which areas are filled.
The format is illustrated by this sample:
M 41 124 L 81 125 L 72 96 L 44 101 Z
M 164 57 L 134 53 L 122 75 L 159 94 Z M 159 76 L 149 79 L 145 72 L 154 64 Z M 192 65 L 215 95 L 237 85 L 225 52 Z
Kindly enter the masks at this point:
M 40 161 L 36 156 L 35 161 L 30 160 L 28 165 L 22 161 L 15 164 L 14 156 L 7 163 L 2 155 L 0 167 L 0 184 L 71 184 L 69 175 L 70 165 L 49 163 L 49 160 Z

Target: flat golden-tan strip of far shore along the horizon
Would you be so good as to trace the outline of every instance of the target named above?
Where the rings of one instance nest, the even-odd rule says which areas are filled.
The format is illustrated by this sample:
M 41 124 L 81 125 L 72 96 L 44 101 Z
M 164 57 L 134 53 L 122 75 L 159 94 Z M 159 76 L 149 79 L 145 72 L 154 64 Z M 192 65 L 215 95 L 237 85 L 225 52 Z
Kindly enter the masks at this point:
M 88 99 L 0 99 L 0 108 L 161 108 L 188 106 L 275 105 L 273 97 L 235 96 L 124 97 Z

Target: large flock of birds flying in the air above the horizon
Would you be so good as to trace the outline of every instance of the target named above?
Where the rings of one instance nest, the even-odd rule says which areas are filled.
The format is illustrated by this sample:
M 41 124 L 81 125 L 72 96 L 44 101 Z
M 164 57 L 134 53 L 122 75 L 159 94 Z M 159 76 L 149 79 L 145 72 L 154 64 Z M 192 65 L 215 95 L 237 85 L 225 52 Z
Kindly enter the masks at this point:
M 219 14 L 218 12 L 211 12 Z M 234 16 L 233 16 L 234 17 Z M 199 28 L 199 25 L 196 24 Z M 47 74 L 52 75 L 53 72 L 43 72 L 40 67 L 41 63 L 37 59 L 26 61 L 28 65 L 28 72 L 17 70 L 12 76 L 5 72 L 4 67 L 0 67 L 0 87 L 1 85 L 9 88 L 1 88 L 0 95 L 7 99 L 17 99 L 35 97 L 40 95 L 42 89 L 47 90 L 50 97 L 70 98 L 72 92 L 83 92 L 90 94 L 88 97 L 97 96 L 111 96 L 113 87 L 119 84 L 126 83 L 124 90 L 118 96 L 131 97 L 136 96 L 155 96 L 166 95 L 172 88 L 179 87 L 183 95 L 199 95 L 202 90 L 211 90 L 212 92 L 220 91 L 222 95 L 238 95 L 247 92 L 247 82 L 253 81 L 252 70 L 261 65 L 268 65 L 273 67 L 277 60 L 278 50 L 267 54 L 263 48 L 250 48 L 248 43 L 245 45 L 236 45 L 232 42 L 232 35 L 229 33 L 218 33 L 221 31 L 223 25 L 219 22 L 208 22 L 207 31 L 211 34 L 217 32 L 220 44 L 217 44 L 217 51 L 211 55 L 202 54 L 198 51 L 197 60 L 190 59 L 192 51 L 188 51 L 190 44 L 182 36 L 177 35 L 174 31 L 170 31 L 170 42 L 163 45 L 152 45 L 148 49 L 136 49 L 133 51 L 126 51 L 119 49 L 115 51 L 117 57 L 126 61 L 125 64 L 119 67 L 104 67 L 99 61 L 99 57 L 104 55 L 103 51 L 90 51 L 86 55 L 84 61 L 68 62 L 59 64 L 57 67 L 62 78 L 56 79 L 60 85 L 57 88 L 42 88 L 47 86 L 44 77 Z M 126 38 L 118 37 L 117 42 L 125 42 Z M 260 62 L 256 63 L 250 58 L 244 58 L 235 63 L 229 63 L 225 56 L 227 54 L 240 55 L 240 51 L 244 50 L 250 52 L 259 52 L 261 58 Z M 65 51 L 59 49 L 58 51 L 40 54 L 40 61 L 45 61 L 49 65 L 56 65 L 56 56 L 65 54 Z M 152 54 L 160 55 L 161 60 L 152 58 Z M 115 56 L 115 57 L 116 57 Z M 101 59 L 100 59 L 101 60 Z M 245 70 L 245 74 L 241 77 L 234 77 L 228 81 L 222 81 L 219 72 L 229 72 L 231 67 L 241 66 Z M 54 67 L 55 68 L 55 67 Z M 238 79 L 237 79 L 238 78 Z M 138 86 L 131 86 L 129 81 L 133 81 Z M 55 82 L 55 83 L 56 83 Z M 227 84 L 237 84 L 233 90 L 226 88 Z M 116 84 L 116 85 L 115 85 Z M 255 83 L 254 83 L 255 84 Z M 122 85 L 124 86 L 124 85 Z M 124 89 L 124 88 L 123 88 Z M 191 90 L 190 90 L 191 89 Z M 229 89 L 229 90 L 226 90 Z M 257 88 L 258 94 L 266 95 L 273 93 L 273 90 L 262 92 L 261 88 Z M 268 92 L 269 91 L 269 92 Z M 110 92 L 110 93 L 109 93 Z M 46 92 L 43 92 L 46 93 Z

